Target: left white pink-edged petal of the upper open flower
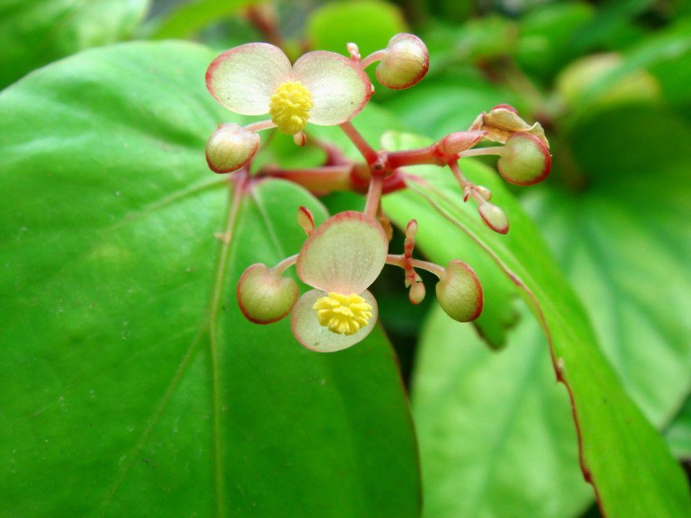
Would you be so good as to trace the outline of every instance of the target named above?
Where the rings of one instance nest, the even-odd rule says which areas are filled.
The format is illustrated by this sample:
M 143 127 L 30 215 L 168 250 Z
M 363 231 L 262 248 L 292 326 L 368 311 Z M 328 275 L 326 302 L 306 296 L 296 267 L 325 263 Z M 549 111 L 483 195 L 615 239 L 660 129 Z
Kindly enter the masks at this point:
M 207 68 L 207 88 L 230 111 L 269 113 L 269 99 L 290 77 L 290 61 L 280 48 L 252 43 L 226 50 Z

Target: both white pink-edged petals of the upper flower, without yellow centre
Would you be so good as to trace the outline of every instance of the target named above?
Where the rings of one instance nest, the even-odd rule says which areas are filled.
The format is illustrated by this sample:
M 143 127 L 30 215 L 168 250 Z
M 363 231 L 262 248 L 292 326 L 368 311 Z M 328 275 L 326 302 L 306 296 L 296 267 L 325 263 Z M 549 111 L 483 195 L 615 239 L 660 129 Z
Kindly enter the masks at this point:
M 307 52 L 293 66 L 280 48 L 265 43 L 240 45 L 211 62 L 207 88 L 220 104 L 241 115 L 269 113 L 269 102 L 281 84 L 300 81 L 313 106 L 310 122 L 332 126 L 346 122 L 372 95 L 366 73 L 335 52 Z

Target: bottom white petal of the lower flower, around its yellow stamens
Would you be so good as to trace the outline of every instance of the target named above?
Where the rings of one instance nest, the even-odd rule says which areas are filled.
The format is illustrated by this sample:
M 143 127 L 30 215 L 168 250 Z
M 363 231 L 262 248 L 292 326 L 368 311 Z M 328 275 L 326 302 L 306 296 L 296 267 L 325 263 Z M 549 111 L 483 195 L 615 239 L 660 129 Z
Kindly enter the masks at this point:
M 290 317 L 290 327 L 292 327 L 296 340 L 312 351 L 336 352 L 348 349 L 370 334 L 377 324 L 377 300 L 369 291 L 363 291 L 359 295 L 372 306 L 372 318 L 365 327 L 350 335 L 337 334 L 331 332 L 328 327 L 319 325 L 319 319 L 312 306 L 325 295 L 321 289 L 312 289 L 297 301 Z

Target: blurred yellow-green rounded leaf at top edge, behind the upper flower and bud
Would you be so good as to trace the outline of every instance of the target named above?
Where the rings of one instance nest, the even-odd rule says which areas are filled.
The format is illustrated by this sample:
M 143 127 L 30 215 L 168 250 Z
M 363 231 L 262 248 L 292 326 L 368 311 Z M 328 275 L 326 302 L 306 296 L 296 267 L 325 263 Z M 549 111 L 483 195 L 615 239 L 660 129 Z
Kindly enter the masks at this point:
M 307 20 L 310 46 L 345 53 L 345 44 L 357 44 L 362 57 L 386 48 L 389 39 L 408 30 L 396 6 L 380 0 L 327 3 Z

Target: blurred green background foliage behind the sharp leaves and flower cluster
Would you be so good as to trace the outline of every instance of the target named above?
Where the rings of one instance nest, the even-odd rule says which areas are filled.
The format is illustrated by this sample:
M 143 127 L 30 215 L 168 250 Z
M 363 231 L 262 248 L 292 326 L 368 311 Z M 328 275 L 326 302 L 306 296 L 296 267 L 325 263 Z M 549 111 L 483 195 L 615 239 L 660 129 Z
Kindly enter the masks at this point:
M 628 394 L 690 470 L 688 2 L 4 0 L 0 85 L 122 39 L 191 39 L 216 50 L 270 41 L 292 58 L 312 48 L 344 53 L 355 41 L 365 56 L 403 31 L 426 42 L 430 71 L 410 90 L 377 86 L 374 102 L 397 129 L 439 138 L 501 103 L 545 126 L 553 172 L 513 193 Z M 319 159 L 314 148 L 296 158 L 276 141 L 260 162 Z M 325 202 L 333 211 L 361 198 Z M 392 247 L 401 245 L 397 231 Z M 413 400 L 426 516 L 598 515 L 533 319 L 509 303 L 478 333 L 444 318 L 430 296 L 401 303 L 398 274 L 385 270 L 375 294 Z M 513 297 L 502 282 L 493 289 Z

